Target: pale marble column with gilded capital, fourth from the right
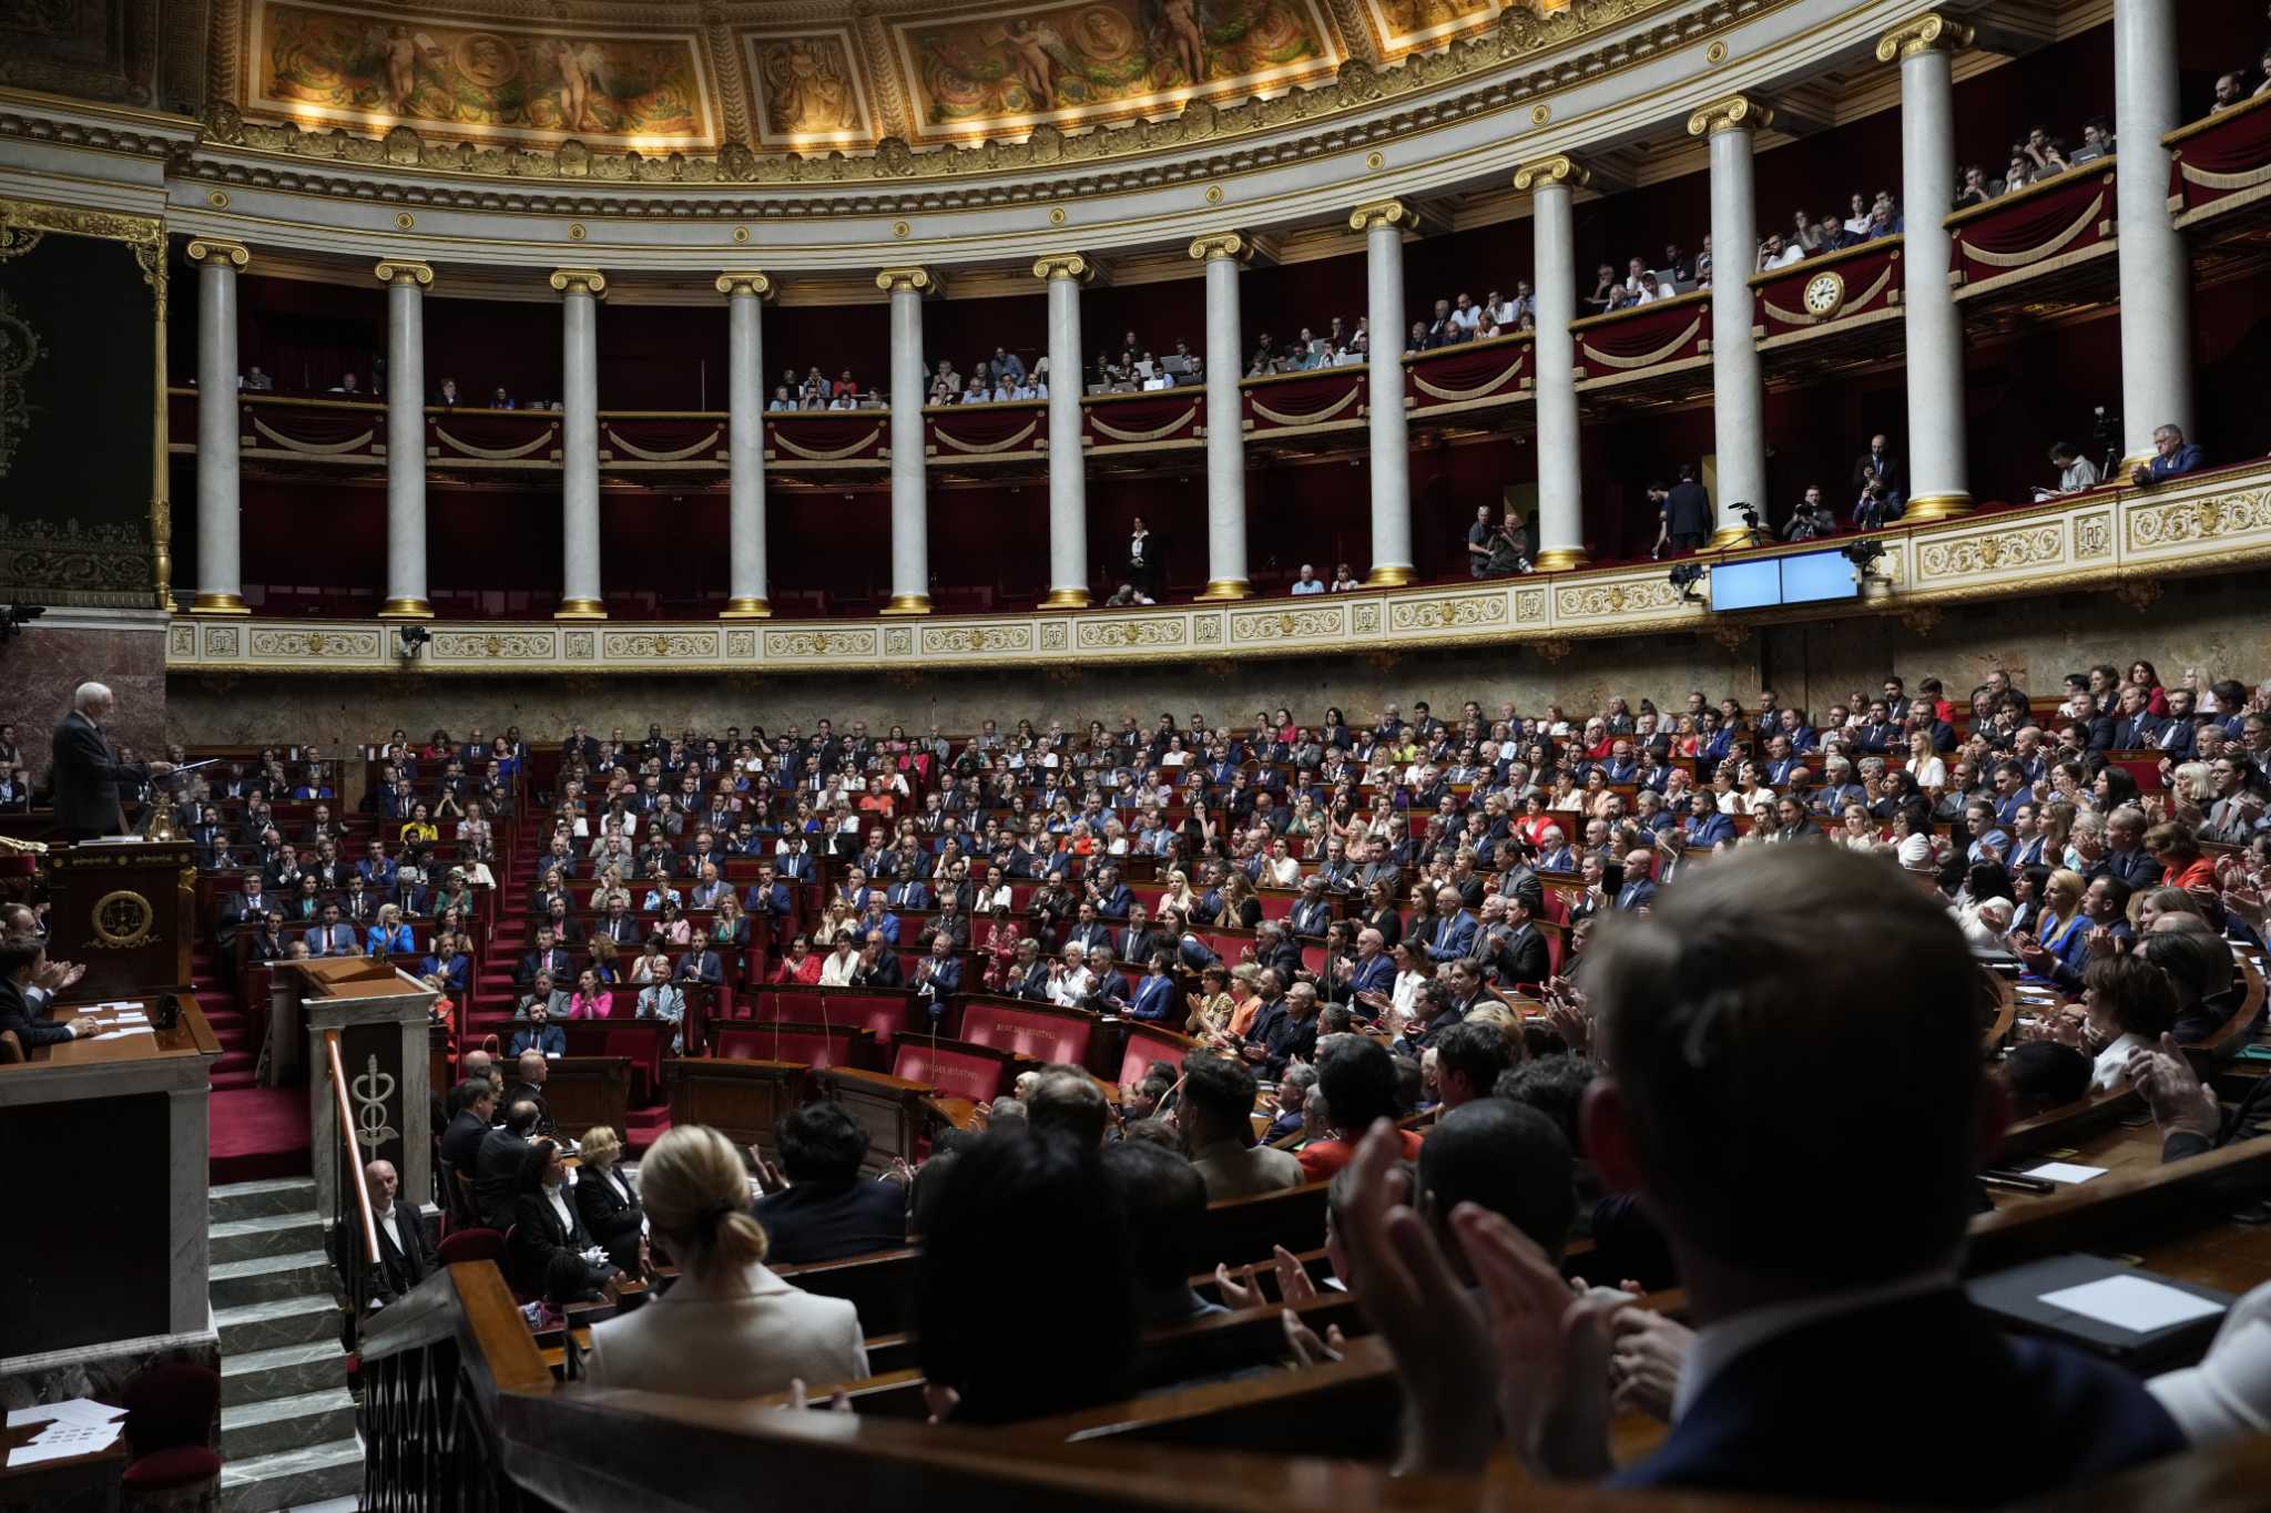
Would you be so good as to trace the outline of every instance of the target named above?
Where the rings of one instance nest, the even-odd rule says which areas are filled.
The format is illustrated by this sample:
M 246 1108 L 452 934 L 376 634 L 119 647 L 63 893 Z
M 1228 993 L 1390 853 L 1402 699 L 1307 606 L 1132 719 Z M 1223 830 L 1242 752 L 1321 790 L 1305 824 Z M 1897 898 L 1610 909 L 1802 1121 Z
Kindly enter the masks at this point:
M 1531 195 L 1537 313 L 1531 370 L 1537 374 L 1537 569 L 1583 567 L 1585 479 L 1576 429 L 1576 240 L 1572 197 L 1587 172 L 1567 157 L 1515 170 L 1515 191 Z

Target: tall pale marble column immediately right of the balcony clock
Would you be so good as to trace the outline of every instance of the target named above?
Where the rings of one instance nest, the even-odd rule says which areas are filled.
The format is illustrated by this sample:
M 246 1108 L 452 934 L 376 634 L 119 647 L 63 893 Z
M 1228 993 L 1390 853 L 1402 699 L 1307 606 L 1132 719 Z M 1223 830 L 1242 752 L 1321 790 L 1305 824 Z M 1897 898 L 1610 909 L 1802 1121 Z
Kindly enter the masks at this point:
M 1901 318 L 1908 336 L 1905 519 L 1971 513 L 1964 463 L 1964 320 L 1949 265 L 1946 211 L 1955 204 L 1955 50 L 1971 27 L 1937 11 L 1910 16 L 1876 43 L 1880 64 L 1901 59 Z

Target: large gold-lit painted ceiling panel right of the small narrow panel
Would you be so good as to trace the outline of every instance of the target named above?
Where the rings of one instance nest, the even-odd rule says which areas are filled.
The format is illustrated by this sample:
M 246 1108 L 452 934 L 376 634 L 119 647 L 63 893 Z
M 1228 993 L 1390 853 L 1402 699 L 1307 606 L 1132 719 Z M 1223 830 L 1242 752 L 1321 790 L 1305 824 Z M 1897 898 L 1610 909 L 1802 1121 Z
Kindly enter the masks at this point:
M 1315 0 L 1074 0 L 893 25 L 915 143 L 1163 116 L 1331 79 Z

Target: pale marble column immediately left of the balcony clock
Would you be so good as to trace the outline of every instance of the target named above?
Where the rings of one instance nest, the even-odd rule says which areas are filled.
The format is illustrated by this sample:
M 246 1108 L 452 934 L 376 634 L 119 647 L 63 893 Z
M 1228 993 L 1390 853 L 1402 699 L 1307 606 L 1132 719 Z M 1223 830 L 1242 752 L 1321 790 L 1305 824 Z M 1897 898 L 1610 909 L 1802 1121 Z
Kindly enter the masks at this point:
M 1751 540 L 1735 506 L 1767 513 L 1767 402 L 1751 336 L 1751 265 L 1758 256 L 1758 204 L 1751 193 L 1751 134 L 1774 113 L 1749 95 L 1728 95 L 1687 118 L 1690 136 L 1710 138 L 1710 363 L 1712 447 L 1719 460 L 1712 547 Z

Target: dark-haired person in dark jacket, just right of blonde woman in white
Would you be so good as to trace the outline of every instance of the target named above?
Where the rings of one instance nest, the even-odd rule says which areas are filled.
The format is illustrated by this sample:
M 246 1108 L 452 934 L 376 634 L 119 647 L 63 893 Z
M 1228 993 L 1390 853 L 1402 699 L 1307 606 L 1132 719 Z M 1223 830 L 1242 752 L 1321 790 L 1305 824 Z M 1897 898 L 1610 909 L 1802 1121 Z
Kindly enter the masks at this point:
M 790 1109 L 772 1136 L 781 1166 L 759 1161 L 765 1195 L 754 1209 L 772 1241 L 768 1263 L 840 1261 L 906 1243 L 906 1189 L 861 1175 L 868 1132 L 840 1105 Z

